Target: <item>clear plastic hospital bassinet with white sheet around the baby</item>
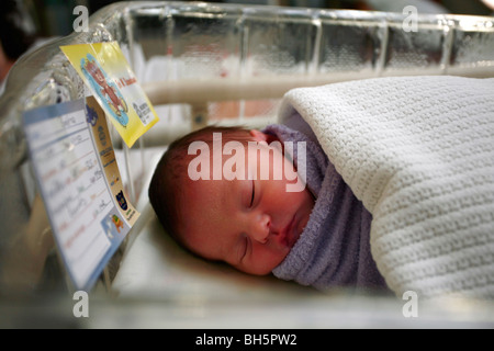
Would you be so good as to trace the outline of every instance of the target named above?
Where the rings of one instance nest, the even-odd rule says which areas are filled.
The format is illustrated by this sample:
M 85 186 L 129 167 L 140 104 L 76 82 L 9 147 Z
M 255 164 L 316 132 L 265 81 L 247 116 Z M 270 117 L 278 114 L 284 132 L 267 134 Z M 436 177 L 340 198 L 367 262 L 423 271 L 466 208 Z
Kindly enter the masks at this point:
M 126 191 L 142 216 L 90 293 L 90 318 L 78 319 L 43 205 L 34 201 L 21 116 L 85 95 L 60 45 L 110 41 L 119 42 L 160 122 L 131 149 L 112 131 Z M 147 201 L 157 158 L 191 129 L 261 127 L 276 121 L 280 98 L 295 87 L 446 73 L 494 76 L 493 18 L 199 2 L 120 2 L 99 11 L 87 32 L 22 57 L 0 100 L 0 253 L 9 278 L 0 325 L 492 327 L 494 309 L 484 303 L 444 302 L 405 318 L 405 302 L 394 296 L 321 294 L 199 261 L 162 235 Z

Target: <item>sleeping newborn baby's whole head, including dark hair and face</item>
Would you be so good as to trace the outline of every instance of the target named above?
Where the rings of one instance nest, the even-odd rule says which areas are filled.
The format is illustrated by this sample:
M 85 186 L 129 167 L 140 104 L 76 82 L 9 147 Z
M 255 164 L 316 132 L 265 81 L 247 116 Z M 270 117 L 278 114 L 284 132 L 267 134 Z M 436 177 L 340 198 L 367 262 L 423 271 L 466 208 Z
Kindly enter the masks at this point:
M 216 143 L 214 135 L 221 137 L 222 148 L 229 141 L 240 143 L 234 155 L 240 160 L 234 165 L 236 177 L 227 174 L 231 168 L 225 166 L 234 157 L 223 155 L 227 149 L 220 151 L 221 165 L 213 162 L 214 150 L 206 152 Z M 204 177 L 199 179 L 194 163 L 200 156 L 190 155 L 198 140 L 210 146 L 200 155 L 205 154 L 200 166 L 209 169 L 201 169 Z M 151 205 L 167 231 L 200 257 L 225 261 L 250 274 L 270 273 L 295 244 L 314 206 L 306 186 L 287 191 L 287 185 L 294 184 L 288 172 L 276 179 L 277 170 L 269 167 L 268 177 L 261 177 L 266 171 L 261 160 L 268 157 L 273 162 L 282 152 L 272 146 L 274 140 L 274 135 L 259 131 L 205 127 L 172 143 L 149 188 Z M 214 179 L 218 170 L 223 174 Z

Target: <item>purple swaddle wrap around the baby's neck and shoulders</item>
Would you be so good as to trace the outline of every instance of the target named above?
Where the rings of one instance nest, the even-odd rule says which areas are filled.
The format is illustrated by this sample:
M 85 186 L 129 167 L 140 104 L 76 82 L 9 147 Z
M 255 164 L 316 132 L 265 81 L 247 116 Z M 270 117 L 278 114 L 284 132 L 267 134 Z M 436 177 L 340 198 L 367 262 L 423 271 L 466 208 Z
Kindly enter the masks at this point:
M 285 125 L 270 125 L 263 132 L 282 143 L 306 141 L 306 184 L 316 199 L 305 229 L 272 273 L 322 291 L 385 288 L 370 251 L 372 215 L 337 173 L 310 126 L 294 114 Z M 295 166 L 296 150 L 294 146 Z

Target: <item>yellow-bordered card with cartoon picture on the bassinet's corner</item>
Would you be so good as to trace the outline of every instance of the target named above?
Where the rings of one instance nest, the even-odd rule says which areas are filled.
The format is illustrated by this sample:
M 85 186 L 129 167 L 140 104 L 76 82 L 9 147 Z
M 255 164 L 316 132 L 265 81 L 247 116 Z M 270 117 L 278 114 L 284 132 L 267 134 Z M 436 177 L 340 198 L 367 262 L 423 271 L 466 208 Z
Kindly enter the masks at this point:
M 158 122 L 119 43 L 67 45 L 60 49 L 128 147 Z

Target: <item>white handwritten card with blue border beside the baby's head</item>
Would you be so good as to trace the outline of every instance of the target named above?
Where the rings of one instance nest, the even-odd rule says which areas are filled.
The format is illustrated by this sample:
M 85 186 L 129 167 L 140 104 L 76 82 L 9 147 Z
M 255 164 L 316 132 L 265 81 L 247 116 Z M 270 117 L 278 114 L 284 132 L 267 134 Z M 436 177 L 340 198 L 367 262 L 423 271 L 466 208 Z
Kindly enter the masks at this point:
M 105 114 L 89 97 L 26 111 L 23 124 L 58 250 L 76 288 L 89 291 L 139 216 Z

